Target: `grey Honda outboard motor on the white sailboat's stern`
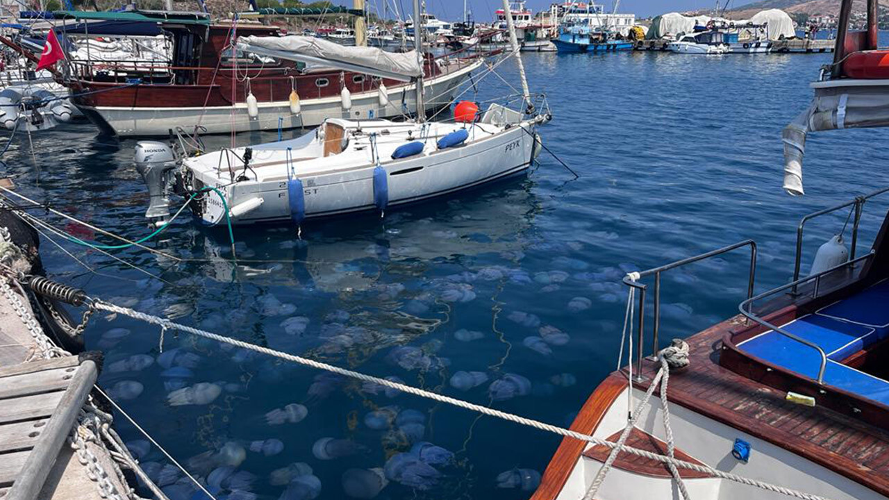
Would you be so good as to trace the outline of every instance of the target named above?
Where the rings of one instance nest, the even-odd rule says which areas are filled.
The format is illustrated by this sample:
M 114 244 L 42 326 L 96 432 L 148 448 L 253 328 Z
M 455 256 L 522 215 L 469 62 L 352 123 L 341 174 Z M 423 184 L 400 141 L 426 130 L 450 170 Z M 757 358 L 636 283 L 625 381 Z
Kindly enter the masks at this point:
M 165 219 L 170 215 L 170 173 L 179 165 L 179 158 L 164 142 L 139 141 L 136 143 L 135 163 L 136 171 L 148 185 L 149 201 L 145 216 L 149 219 Z

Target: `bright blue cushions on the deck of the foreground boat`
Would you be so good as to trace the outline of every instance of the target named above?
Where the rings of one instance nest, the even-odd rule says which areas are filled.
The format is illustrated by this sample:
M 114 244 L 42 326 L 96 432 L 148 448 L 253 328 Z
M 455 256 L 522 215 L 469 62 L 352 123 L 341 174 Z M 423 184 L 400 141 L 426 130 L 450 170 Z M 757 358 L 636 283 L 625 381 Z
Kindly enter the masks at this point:
M 795 319 L 781 329 L 818 344 L 828 354 L 824 383 L 889 406 L 889 382 L 838 362 L 877 342 L 876 329 L 820 315 Z M 739 343 L 738 348 L 799 375 L 818 378 L 818 351 L 773 330 Z

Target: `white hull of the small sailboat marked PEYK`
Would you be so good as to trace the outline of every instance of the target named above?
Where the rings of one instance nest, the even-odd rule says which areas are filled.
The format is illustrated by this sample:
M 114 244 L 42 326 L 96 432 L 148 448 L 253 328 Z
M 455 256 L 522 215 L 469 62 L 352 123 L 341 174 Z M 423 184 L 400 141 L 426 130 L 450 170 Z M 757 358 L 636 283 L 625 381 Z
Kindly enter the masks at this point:
M 436 137 L 460 130 L 463 125 L 435 124 L 423 152 L 401 159 L 391 159 L 392 151 L 405 143 L 407 130 L 412 130 L 413 137 L 419 138 L 420 125 L 366 122 L 362 126 L 365 133 L 390 131 L 390 134 L 380 135 L 379 141 L 387 141 L 379 145 L 380 166 L 386 171 L 388 206 L 398 206 L 525 172 L 533 160 L 536 123 L 526 121 L 510 128 L 469 125 L 469 139 L 459 147 L 447 149 L 436 149 Z M 262 149 L 274 148 L 274 143 L 257 147 L 253 150 L 253 170 L 248 173 L 252 178 L 234 183 L 225 167 L 231 164 L 233 170 L 239 170 L 238 160 L 228 156 L 228 149 L 187 158 L 183 168 L 193 175 L 194 188 L 218 187 L 233 213 L 238 212 L 236 206 L 245 202 L 256 203 L 257 198 L 261 200 L 261 204 L 251 211 L 235 214 L 231 220 L 236 224 L 292 220 L 287 165 L 292 166 L 302 183 L 305 218 L 371 211 L 377 209 L 373 179 L 377 165 L 372 161 L 367 136 L 364 137 L 352 136 L 348 149 L 331 157 L 300 160 L 300 156 L 305 155 L 303 151 L 311 150 L 313 146 L 293 149 L 292 157 L 297 159 L 292 164 L 286 161 L 284 150 Z M 243 152 L 239 154 L 242 155 Z M 221 172 L 218 165 L 223 165 Z M 204 197 L 199 212 L 208 224 L 224 223 L 225 209 L 216 194 L 208 193 Z

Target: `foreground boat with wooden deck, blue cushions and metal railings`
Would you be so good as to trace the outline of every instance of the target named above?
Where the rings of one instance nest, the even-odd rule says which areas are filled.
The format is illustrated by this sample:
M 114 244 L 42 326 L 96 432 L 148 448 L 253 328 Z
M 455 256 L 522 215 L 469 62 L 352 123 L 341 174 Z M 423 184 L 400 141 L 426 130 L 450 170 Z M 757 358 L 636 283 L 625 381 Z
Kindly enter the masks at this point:
M 889 51 L 877 49 L 877 1 L 868 3 L 867 32 L 848 32 L 852 4 L 840 6 L 835 64 L 783 134 L 789 194 L 803 194 L 806 133 L 889 125 L 889 71 L 880 65 Z M 866 251 L 859 238 L 864 207 L 887 192 L 806 215 L 794 278 L 763 293 L 755 292 L 753 240 L 629 273 L 629 364 L 599 384 L 572 425 L 597 441 L 565 438 L 534 500 L 889 496 L 889 216 Z M 806 222 L 837 212 L 848 214 L 848 225 L 802 276 Z M 661 280 L 739 251 L 749 251 L 741 314 L 662 342 Z

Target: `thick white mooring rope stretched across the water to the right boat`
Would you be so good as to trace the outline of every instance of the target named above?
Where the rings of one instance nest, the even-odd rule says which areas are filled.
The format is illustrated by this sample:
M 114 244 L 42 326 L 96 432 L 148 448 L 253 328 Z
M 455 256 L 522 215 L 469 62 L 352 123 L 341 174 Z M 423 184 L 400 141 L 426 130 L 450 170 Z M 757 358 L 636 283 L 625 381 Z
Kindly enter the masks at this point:
M 493 409 L 491 407 L 483 407 L 481 405 L 469 403 L 467 401 L 463 401 L 461 399 L 455 399 L 450 396 L 445 396 L 443 394 L 436 394 L 435 392 L 424 391 L 422 389 L 418 389 L 416 387 L 412 387 L 410 385 L 406 385 L 404 383 L 396 383 L 390 380 L 386 380 L 384 378 L 372 376 L 372 375 L 364 375 L 362 373 L 352 371 L 346 368 L 334 367 L 333 365 L 328 365 L 327 363 L 322 363 L 320 361 L 316 361 L 314 359 L 302 358 L 300 356 L 296 356 L 293 354 L 289 354 L 286 352 L 275 351 L 273 349 L 269 349 L 268 347 L 263 347 L 261 345 L 256 345 L 252 343 L 246 343 L 237 339 L 233 339 L 224 335 L 214 334 L 212 332 L 208 332 L 206 330 L 201 330 L 195 327 L 188 327 L 185 325 L 180 325 L 179 323 L 175 323 L 169 319 L 160 318 L 151 314 L 146 314 L 144 312 L 140 312 L 137 310 L 132 310 L 129 308 L 121 307 L 109 302 L 102 302 L 98 299 L 91 299 L 91 307 L 97 310 L 106 310 L 108 312 L 116 312 L 118 314 L 123 314 L 124 316 L 128 316 L 132 319 L 139 319 L 140 321 L 144 321 L 151 325 L 156 325 L 158 327 L 166 327 L 179 330 L 180 332 L 185 332 L 193 335 L 198 335 L 204 338 L 212 339 L 220 343 L 228 343 L 229 345 L 234 345 L 236 347 L 240 347 L 243 349 L 247 349 L 250 351 L 260 352 L 262 354 L 267 354 L 268 356 L 273 356 L 279 359 L 286 359 L 288 361 L 292 361 L 294 363 L 299 363 L 300 365 L 304 365 L 307 367 L 313 367 L 316 369 L 324 370 L 327 372 L 331 372 L 338 375 L 345 375 L 351 378 L 355 378 L 357 380 L 361 380 L 364 382 L 376 383 L 382 385 L 384 387 L 389 387 L 391 389 L 396 389 L 398 391 L 407 392 L 408 394 L 413 394 L 415 396 L 420 396 L 421 398 L 433 399 L 442 403 L 446 403 L 452 405 L 454 407 L 461 407 L 464 409 L 468 409 L 470 411 L 475 411 L 477 413 L 481 413 L 483 415 L 494 416 L 500 418 L 502 420 L 506 420 L 512 423 L 518 423 L 521 425 L 525 425 L 528 427 L 533 427 L 534 429 L 538 429 L 541 431 L 548 431 L 554 434 L 558 434 L 560 436 L 565 436 L 568 438 L 573 438 L 575 440 L 581 440 L 593 445 L 605 446 L 608 448 L 617 448 L 617 443 L 608 440 L 602 440 L 599 438 L 595 438 L 588 434 L 583 434 L 578 431 L 571 431 L 569 429 L 565 429 L 563 427 L 558 427 L 557 425 L 551 425 L 549 423 L 542 423 L 538 420 L 533 420 L 531 418 L 525 418 L 524 416 L 513 415 L 507 412 L 503 412 L 500 410 Z M 675 458 L 670 458 L 669 456 L 658 455 L 656 453 L 652 453 L 650 451 L 645 451 L 644 449 L 632 448 L 632 447 L 623 447 L 621 451 L 625 451 L 632 455 L 642 456 L 648 458 L 650 460 L 655 460 L 657 462 L 661 462 L 662 464 L 672 463 L 677 467 L 681 467 L 683 469 L 688 469 L 694 472 L 701 472 L 705 474 L 709 474 L 711 476 L 721 478 L 724 480 L 732 480 L 734 482 L 752 486 L 755 488 L 762 488 L 768 491 L 772 491 L 774 493 L 778 493 L 786 496 L 793 496 L 795 498 L 800 498 L 801 500 L 828 500 L 823 496 L 811 495 L 808 493 L 804 493 L 801 491 L 797 491 L 792 488 L 784 488 L 781 486 L 773 485 L 771 483 L 767 483 L 760 480 L 752 480 L 749 478 L 745 478 L 739 476 L 737 474 L 733 474 L 731 472 L 723 472 L 717 469 L 710 467 L 709 465 L 704 464 L 693 464 L 692 462 L 685 462 L 684 460 L 677 460 Z

